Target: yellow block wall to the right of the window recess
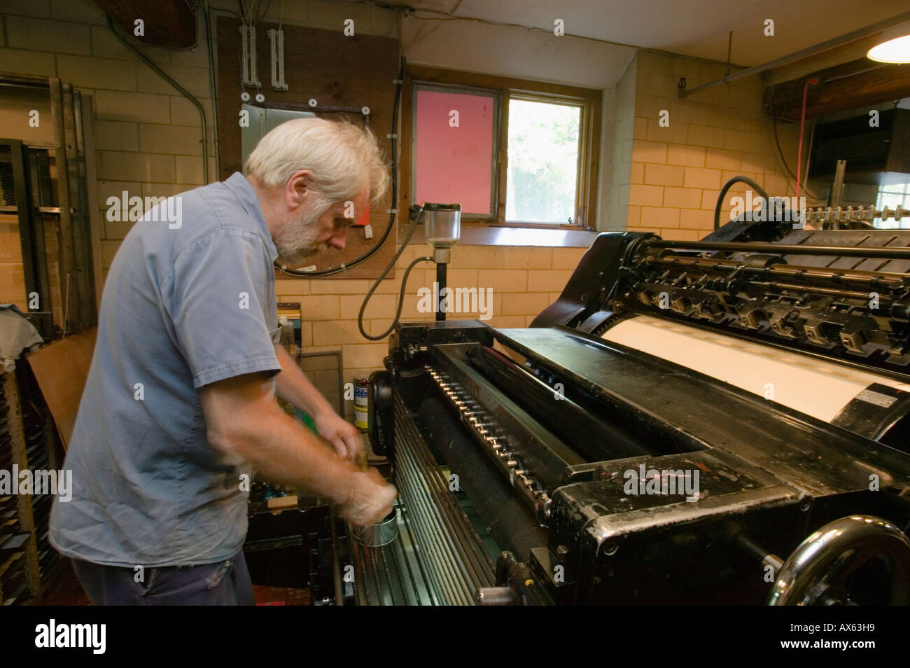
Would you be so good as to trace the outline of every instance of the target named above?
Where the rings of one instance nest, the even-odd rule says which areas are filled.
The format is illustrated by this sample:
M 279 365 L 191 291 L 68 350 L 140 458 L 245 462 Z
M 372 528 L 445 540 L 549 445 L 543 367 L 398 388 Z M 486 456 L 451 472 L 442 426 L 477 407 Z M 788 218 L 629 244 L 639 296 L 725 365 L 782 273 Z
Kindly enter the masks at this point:
M 686 99 L 677 94 L 681 76 L 694 87 L 724 74 L 722 65 L 690 58 L 644 51 L 636 56 L 634 69 L 621 82 L 631 87 L 629 78 L 634 77 L 634 107 L 618 108 L 616 136 L 621 144 L 614 147 L 614 156 L 628 157 L 628 162 L 614 165 L 613 175 L 614 183 L 628 183 L 622 204 L 628 205 L 625 222 L 630 231 L 667 239 L 703 238 L 713 229 L 721 187 L 737 175 L 753 178 L 771 197 L 794 196 L 795 179 L 784 167 L 773 123 L 762 108 L 762 77 L 745 77 Z M 669 112 L 666 127 L 659 123 L 662 110 Z M 810 130 L 807 123 L 804 142 Z M 794 172 L 798 132 L 797 124 L 777 124 L 781 148 Z M 746 190 L 743 184 L 730 189 L 727 212 L 732 198 L 745 197 Z M 806 205 L 814 204 L 807 197 Z M 722 216 L 722 224 L 726 220 L 729 214 Z

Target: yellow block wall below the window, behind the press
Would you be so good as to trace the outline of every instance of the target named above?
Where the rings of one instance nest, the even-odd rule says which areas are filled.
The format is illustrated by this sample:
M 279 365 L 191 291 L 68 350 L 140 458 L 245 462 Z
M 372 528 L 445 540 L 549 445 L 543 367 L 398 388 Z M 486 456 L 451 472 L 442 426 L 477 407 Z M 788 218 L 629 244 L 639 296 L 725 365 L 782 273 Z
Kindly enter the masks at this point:
M 457 246 L 448 269 L 450 288 L 491 288 L 492 327 L 527 327 L 531 320 L 557 299 L 578 266 L 586 248 L 540 248 L 506 246 Z M 389 328 L 398 303 L 404 268 L 414 258 L 431 255 L 430 247 L 411 244 L 401 253 L 395 278 L 386 278 L 364 312 L 364 329 L 371 335 Z M 435 314 L 418 310 L 420 288 L 432 288 L 436 268 L 431 262 L 410 272 L 401 319 L 433 320 Z M 343 278 L 279 278 L 278 301 L 299 302 L 304 322 L 301 344 L 304 352 L 341 350 L 344 380 L 367 378 L 382 369 L 389 352 L 388 339 L 369 341 L 359 332 L 357 316 L 364 295 L 373 281 Z M 449 319 L 477 319 L 478 313 L 456 313 Z M 353 402 L 345 402 L 348 416 Z

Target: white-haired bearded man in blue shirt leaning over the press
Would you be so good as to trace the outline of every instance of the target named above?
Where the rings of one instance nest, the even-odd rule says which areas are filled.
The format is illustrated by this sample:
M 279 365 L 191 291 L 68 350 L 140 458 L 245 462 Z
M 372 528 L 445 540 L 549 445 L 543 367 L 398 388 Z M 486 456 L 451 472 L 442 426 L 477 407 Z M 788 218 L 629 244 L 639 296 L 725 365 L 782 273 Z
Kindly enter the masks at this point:
M 178 195 L 177 223 L 147 212 L 107 275 L 66 454 L 73 498 L 50 521 L 96 604 L 252 603 L 241 548 L 254 470 L 357 525 L 391 510 L 395 489 L 352 463 L 359 431 L 278 346 L 273 270 L 276 258 L 297 266 L 344 248 L 388 186 L 376 139 L 289 121 L 262 138 L 246 171 Z

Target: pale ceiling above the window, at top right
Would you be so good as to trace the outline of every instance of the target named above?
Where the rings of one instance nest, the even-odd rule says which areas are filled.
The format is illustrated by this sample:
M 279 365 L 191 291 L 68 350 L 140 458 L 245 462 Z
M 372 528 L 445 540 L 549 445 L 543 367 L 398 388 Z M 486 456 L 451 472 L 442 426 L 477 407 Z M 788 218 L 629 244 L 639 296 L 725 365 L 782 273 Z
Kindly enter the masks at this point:
M 388 2 L 388 0 L 387 0 Z M 567 35 L 621 42 L 753 66 L 908 9 L 907 0 L 391 0 L 391 4 L 540 27 L 565 22 Z M 430 16 L 430 12 L 420 15 Z M 763 35 L 764 20 L 774 36 Z

